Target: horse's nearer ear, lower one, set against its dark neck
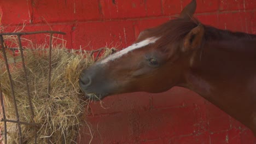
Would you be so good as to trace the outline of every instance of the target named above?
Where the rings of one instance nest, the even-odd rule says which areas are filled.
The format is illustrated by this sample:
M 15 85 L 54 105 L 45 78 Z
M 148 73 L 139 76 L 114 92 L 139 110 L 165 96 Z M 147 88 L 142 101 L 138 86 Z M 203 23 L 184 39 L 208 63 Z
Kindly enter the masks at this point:
M 197 27 L 193 28 L 183 39 L 182 51 L 186 52 L 200 47 L 204 33 L 205 28 L 201 23 Z

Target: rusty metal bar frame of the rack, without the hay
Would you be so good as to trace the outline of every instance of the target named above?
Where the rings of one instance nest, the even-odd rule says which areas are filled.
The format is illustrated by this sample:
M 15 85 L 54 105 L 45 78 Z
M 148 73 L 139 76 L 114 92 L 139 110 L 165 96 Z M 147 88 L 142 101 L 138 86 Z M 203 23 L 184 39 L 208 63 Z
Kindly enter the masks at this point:
M 21 33 L 0 33 L 0 44 L 1 44 L 1 50 L 3 53 L 3 58 L 4 58 L 4 63 L 5 63 L 5 67 L 6 70 L 8 72 L 8 78 L 10 81 L 10 87 L 11 87 L 11 95 L 12 95 L 12 99 L 13 99 L 13 104 L 14 104 L 14 109 L 15 109 L 15 115 L 16 115 L 16 119 L 7 119 L 5 116 L 5 109 L 4 109 L 4 101 L 3 101 L 3 93 L 2 93 L 2 88 L 1 88 L 1 78 L 0 78 L 0 100 L 1 100 L 1 106 L 2 106 L 2 113 L 3 113 L 3 118 L 2 118 L 2 122 L 4 122 L 4 143 L 7 143 L 7 122 L 9 123 L 16 123 L 16 125 L 18 126 L 18 134 L 19 134 L 19 143 L 22 143 L 22 133 L 21 133 L 21 124 L 25 124 L 25 125 L 31 125 L 33 126 L 35 129 L 35 135 L 34 135 L 34 143 L 37 143 L 37 129 L 41 126 L 40 124 L 37 124 L 34 122 L 33 117 L 34 117 L 34 111 L 33 111 L 33 107 L 31 104 L 31 96 L 30 96 L 30 89 L 28 87 L 28 78 L 27 78 L 27 72 L 26 72 L 26 65 L 25 65 L 25 59 L 24 59 L 24 53 L 23 53 L 23 49 L 22 49 L 22 44 L 21 44 L 21 36 L 22 35 L 28 35 L 28 34 L 40 34 L 40 33 L 49 33 L 50 34 L 50 45 L 49 45 L 49 77 L 48 77 L 48 94 L 50 94 L 50 79 L 51 79 L 51 49 L 52 49 L 52 41 L 53 41 L 53 34 L 65 34 L 63 32 L 56 32 L 56 31 L 37 31 L 37 32 L 21 32 Z M 19 117 L 19 112 L 18 112 L 18 107 L 16 104 L 16 98 L 15 98 L 15 93 L 14 93 L 14 87 L 13 87 L 13 80 L 11 79 L 11 73 L 10 73 L 10 68 L 9 68 L 9 64 L 8 64 L 8 58 L 7 58 L 7 53 L 5 51 L 5 49 L 7 49 L 7 47 L 5 47 L 4 45 L 4 38 L 3 35 L 16 35 L 18 37 L 18 44 L 19 44 L 19 50 L 20 50 L 20 54 L 21 54 L 21 60 L 22 60 L 22 68 L 24 69 L 24 75 L 26 78 L 26 87 L 27 87 L 27 97 L 28 97 L 28 101 L 29 101 L 29 105 L 30 105 L 30 115 L 32 117 L 32 122 L 28 123 L 28 122 L 21 122 L 20 121 L 20 117 Z M 50 143 L 50 137 L 48 137 L 48 143 Z

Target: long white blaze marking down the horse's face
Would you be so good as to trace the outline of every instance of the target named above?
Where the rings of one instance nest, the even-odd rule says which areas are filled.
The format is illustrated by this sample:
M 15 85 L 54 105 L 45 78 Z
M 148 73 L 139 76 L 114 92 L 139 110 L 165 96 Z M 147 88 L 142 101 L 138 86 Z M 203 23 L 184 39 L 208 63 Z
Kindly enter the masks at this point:
M 142 40 L 139 43 L 136 44 L 132 44 L 131 46 L 126 47 L 125 49 L 118 51 L 116 53 L 114 53 L 113 55 L 108 56 L 107 58 L 103 59 L 100 63 L 107 63 L 109 61 L 114 61 L 114 59 L 117 59 L 123 55 L 125 55 L 126 53 L 139 49 L 141 47 L 147 46 L 149 44 L 153 44 L 155 43 L 156 40 L 158 40 L 159 38 L 155 38 L 155 37 L 151 37 L 151 38 L 147 38 L 145 40 Z

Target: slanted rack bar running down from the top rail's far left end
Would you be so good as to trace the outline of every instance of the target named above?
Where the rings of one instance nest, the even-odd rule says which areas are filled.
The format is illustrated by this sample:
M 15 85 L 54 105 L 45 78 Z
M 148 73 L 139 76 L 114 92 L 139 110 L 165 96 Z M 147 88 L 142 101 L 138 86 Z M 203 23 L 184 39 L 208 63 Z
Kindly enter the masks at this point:
M 19 117 L 19 112 L 18 112 L 18 108 L 17 108 L 17 104 L 16 104 L 16 98 L 15 98 L 15 94 L 14 94 L 14 87 L 13 87 L 13 81 L 11 79 L 11 74 L 10 74 L 10 69 L 9 69 L 9 65 L 8 65 L 8 60 L 7 60 L 7 56 L 6 56 L 6 52 L 4 49 L 4 40 L 3 40 L 3 35 L 0 35 L 0 41 L 1 41 L 1 46 L 2 46 L 2 52 L 3 52 L 3 56 L 4 56 L 4 61 L 5 61 L 5 66 L 8 72 L 8 77 L 10 80 L 10 87 L 11 87 L 11 95 L 13 96 L 13 103 L 14 103 L 14 109 L 15 109 L 15 114 L 16 114 L 16 118 L 18 121 L 18 130 L 19 130 L 19 142 L 22 143 L 22 134 L 21 134 L 21 127 L 20 127 L 20 117 Z

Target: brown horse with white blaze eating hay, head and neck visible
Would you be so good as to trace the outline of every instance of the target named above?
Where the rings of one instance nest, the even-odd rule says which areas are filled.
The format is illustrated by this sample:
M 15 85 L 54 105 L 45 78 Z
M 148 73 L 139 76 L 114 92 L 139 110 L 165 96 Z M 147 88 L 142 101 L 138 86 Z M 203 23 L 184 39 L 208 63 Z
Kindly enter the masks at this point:
M 160 93 L 181 86 L 200 94 L 256 135 L 256 35 L 202 25 L 196 1 L 177 19 L 141 32 L 134 44 L 86 70 L 85 93 Z

